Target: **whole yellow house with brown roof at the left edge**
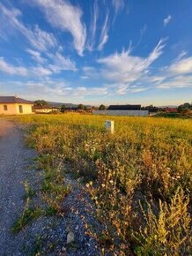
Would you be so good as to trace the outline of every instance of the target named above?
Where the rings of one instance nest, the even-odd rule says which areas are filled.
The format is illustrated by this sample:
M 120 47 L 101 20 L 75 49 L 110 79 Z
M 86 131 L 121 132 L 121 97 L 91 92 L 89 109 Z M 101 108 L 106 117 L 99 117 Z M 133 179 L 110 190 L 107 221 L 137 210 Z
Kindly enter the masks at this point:
M 0 96 L 0 115 L 33 114 L 33 102 L 17 96 Z

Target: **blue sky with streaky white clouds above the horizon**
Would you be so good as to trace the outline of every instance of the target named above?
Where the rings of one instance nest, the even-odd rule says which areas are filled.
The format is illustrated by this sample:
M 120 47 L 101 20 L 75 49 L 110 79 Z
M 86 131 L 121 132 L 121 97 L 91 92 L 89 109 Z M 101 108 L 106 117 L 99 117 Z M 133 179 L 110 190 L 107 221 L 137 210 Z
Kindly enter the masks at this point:
M 192 102 L 191 0 L 1 0 L 0 95 Z

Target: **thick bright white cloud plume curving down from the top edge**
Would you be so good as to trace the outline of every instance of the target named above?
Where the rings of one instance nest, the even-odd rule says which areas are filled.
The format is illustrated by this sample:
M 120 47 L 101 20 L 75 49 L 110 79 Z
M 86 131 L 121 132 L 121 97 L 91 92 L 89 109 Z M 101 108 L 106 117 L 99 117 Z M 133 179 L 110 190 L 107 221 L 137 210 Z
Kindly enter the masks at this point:
M 70 32 L 74 47 L 80 56 L 85 49 L 86 28 L 82 22 L 82 11 L 65 0 L 33 0 L 41 7 L 51 26 Z

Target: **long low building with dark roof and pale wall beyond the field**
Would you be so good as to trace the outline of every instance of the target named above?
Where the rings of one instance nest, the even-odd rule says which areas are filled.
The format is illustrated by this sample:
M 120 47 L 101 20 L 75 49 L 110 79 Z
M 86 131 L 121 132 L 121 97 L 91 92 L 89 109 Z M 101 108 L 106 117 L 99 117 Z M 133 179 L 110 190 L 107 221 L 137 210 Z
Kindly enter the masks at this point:
M 93 115 L 107 116 L 133 116 L 145 117 L 148 116 L 148 110 L 141 110 L 141 105 L 110 105 L 107 110 L 93 110 Z

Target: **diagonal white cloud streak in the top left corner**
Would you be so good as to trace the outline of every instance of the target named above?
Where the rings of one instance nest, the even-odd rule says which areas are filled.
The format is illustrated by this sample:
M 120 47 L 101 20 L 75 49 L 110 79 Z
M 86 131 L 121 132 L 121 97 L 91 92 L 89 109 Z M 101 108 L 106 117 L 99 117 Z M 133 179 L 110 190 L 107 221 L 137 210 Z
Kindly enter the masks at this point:
M 39 51 L 46 51 L 57 46 L 57 41 L 53 34 L 42 31 L 37 25 L 34 26 L 34 29 L 25 26 L 18 19 L 21 14 L 18 9 L 7 9 L 4 4 L 0 3 L 0 35 L 4 37 L 9 34 L 22 34 Z

